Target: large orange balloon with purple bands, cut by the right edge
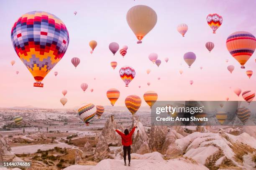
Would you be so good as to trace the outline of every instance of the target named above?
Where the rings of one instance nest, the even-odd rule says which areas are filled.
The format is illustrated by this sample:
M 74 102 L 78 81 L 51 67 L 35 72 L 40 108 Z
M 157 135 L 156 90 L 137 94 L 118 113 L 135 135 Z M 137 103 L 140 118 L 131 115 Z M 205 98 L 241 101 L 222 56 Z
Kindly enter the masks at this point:
M 226 46 L 229 53 L 241 64 L 241 68 L 245 68 L 243 65 L 255 51 L 256 39 L 250 32 L 238 31 L 228 36 Z

